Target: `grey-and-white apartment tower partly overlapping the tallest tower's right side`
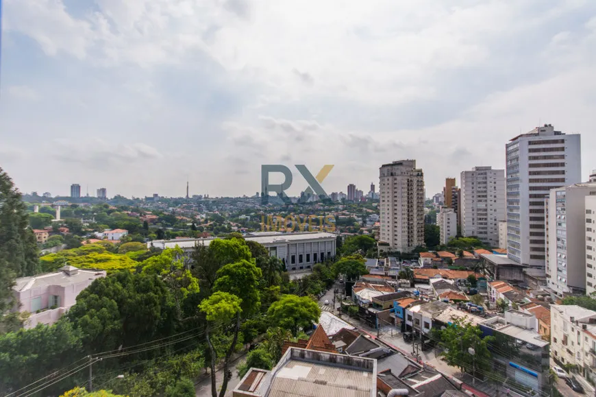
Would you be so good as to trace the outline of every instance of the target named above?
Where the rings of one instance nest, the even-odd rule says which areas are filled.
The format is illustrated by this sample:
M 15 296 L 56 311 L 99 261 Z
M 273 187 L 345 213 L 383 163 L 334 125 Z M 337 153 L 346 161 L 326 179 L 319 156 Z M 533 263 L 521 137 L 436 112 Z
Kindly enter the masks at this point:
M 585 207 L 586 197 L 593 195 L 596 183 L 578 183 L 551 189 L 546 200 L 547 285 L 558 296 L 585 292 L 586 228 L 590 225 Z

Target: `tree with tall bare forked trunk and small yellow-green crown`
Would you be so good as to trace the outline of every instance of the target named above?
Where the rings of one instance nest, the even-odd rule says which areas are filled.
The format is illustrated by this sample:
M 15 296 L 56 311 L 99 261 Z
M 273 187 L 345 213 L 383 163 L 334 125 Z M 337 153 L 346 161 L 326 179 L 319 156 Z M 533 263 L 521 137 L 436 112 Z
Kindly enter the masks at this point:
M 218 350 L 214 345 L 214 341 L 212 340 L 211 330 L 212 328 L 216 327 L 223 327 L 229 325 L 234 318 L 239 319 L 240 313 L 242 309 L 240 304 L 242 300 L 238 298 L 238 296 L 233 295 L 232 293 L 227 293 L 223 291 L 216 291 L 212 293 L 209 298 L 204 299 L 201 304 L 199 304 L 199 309 L 202 313 L 205 314 L 207 320 L 207 328 L 206 328 L 206 339 L 207 344 L 210 350 L 210 367 L 211 367 L 211 395 L 212 397 L 217 397 L 217 387 L 216 387 L 216 378 L 215 378 L 215 364 L 216 360 L 218 359 Z M 239 324 L 239 320 L 236 320 L 236 324 Z M 229 356 L 232 355 L 234 348 L 236 347 L 236 337 L 227 348 L 227 352 L 225 352 L 225 363 L 224 363 L 224 379 L 223 385 L 221 387 L 221 394 L 220 397 L 225 395 L 225 389 L 227 389 L 227 361 L 229 360 Z M 226 359 L 227 357 L 227 359 Z

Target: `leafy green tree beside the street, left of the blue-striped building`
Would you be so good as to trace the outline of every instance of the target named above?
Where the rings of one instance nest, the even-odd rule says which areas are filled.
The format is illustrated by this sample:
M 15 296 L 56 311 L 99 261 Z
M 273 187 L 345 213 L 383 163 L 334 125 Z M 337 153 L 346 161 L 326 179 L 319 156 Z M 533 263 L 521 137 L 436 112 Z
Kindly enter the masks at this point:
M 479 326 L 454 320 L 443 330 L 434 330 L 434 335 L 445 348 L 441 353 L 445 362 L 458 367 L 462 372 L 488 374 L 492 370 L 491 352 L 488 350 L 494 337 L 482 337 Z M 473 349 L 474 354 L 469 349 Z

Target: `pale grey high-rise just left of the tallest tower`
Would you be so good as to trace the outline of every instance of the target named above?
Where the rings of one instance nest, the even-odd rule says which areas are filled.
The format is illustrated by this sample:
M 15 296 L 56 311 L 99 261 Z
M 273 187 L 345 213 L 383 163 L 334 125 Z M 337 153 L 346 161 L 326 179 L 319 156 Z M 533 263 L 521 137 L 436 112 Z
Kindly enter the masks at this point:
M 505 219 L 505 170 L 474 167 L 462 171 L 461 181 L 462 236 L 497 247 L 499 221 Z

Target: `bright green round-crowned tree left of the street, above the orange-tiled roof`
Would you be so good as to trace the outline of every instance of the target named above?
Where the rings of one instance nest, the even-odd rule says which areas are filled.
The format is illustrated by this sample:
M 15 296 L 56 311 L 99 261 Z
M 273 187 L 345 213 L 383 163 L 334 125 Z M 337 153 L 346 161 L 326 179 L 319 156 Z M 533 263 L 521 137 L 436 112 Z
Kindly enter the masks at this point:
M 296 336 L 299 330 L 309 328 L 319 320 L 321 309 L 308 296 L 284 295 L 271 304 L 267 315 L 273 326 L 286 328 Z

